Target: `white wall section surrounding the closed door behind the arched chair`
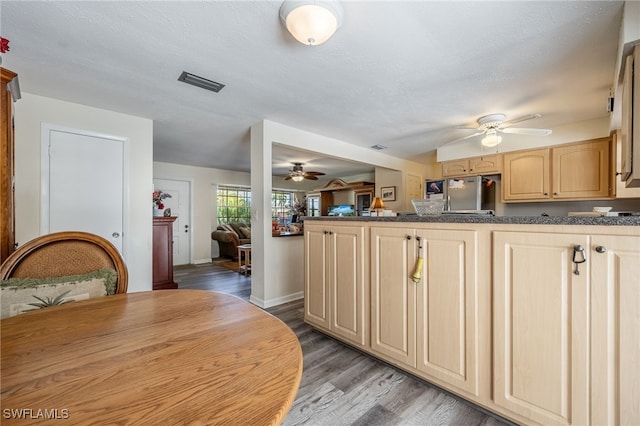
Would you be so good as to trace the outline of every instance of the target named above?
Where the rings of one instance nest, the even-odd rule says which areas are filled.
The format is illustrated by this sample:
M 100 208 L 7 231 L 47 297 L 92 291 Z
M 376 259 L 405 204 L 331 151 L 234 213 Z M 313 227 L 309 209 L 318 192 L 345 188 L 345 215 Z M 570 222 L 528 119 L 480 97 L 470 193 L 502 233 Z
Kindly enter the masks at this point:
M 129 223 L 125 262 L 129 292 L 151 290 L 153 122 L 22 92 L 15 105 L 16 241 L 40 235 L 41 123 L 121 136 L 129 140 Z

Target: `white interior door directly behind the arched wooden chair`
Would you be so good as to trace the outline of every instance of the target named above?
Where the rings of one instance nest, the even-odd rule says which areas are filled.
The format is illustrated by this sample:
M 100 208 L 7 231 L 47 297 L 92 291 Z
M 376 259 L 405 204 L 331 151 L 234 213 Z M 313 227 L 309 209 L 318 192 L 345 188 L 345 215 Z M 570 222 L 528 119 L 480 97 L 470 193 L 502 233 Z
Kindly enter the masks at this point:
M 85 231 L 124 247 L 124 138 L 43 125 L 41 233 Z

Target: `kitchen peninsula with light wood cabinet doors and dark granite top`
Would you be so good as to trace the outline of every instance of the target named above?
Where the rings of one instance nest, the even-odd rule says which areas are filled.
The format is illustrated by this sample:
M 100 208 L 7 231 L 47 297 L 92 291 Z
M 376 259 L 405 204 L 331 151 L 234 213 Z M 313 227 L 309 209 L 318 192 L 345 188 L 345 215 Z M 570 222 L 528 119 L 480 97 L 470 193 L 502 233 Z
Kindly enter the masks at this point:
M 518 424 L 640 424 L 640 216 L 325 216 L 304 232 L 312 327 Z

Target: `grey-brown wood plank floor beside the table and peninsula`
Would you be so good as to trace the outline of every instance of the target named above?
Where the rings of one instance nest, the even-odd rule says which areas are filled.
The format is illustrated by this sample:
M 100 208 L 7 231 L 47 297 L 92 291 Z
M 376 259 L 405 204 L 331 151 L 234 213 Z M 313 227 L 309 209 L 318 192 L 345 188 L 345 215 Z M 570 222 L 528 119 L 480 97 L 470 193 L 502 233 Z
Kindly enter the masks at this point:
M 178 266 L 174 279 L 179 288 L 249 300 L 251 277 L 216 263 Z M 510 424 L 314 330 L 304 323 L 302 300 L 267 311 L 291 327 L 304 354 L 300 389 L 283 425 Z

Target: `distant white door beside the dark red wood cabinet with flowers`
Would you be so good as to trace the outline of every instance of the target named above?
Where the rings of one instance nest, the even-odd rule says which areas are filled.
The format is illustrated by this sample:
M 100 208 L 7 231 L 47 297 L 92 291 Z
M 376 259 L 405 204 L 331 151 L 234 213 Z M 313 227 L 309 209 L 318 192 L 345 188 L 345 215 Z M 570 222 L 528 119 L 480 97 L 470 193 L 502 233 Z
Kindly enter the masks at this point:
M 162 201 L 165 209 L 171 209 L 173 222 L 173 264 L 191 263 L 191 182 L 184 180 L 154 179 L 153 189 L 171 194 Z

